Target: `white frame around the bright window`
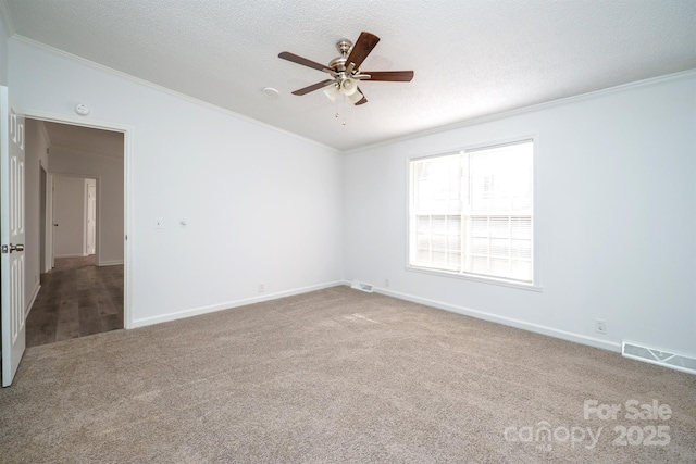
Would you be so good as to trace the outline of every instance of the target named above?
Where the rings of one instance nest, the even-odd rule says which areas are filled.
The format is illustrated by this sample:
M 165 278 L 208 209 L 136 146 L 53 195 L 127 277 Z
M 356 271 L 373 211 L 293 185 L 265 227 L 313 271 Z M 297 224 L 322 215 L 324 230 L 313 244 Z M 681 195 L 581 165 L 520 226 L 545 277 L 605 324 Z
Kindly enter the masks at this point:
M 472 151 L 478 151 L 478 150 L 485 150 L 485 149 L 490 149 L 490 148 L 497 148 L 497 147 L 502 147 L 502 146 L 508 146 L 508 145 L 515 145 L 515 143 L 521 143 L 521 142 L 525 142 L 525 141 L 532 141 L 533 142 L 533 154 L 532 154 L 532 164 L 533 164 L 533 179 L 532 179 L 532 188 L 533 188 L 533 204 L 532 204 L 532 281 L 531 283 L 526 283 L 526 281 L 520 281 L 520 280 L 513 280 L 513 279 L 508 279 L 508 278 L 502 278 L 502 277 L 494 277 L 494 276 L 485 276 L 485 275 L 478 275 L 478 274 L 469 274 L 469 273 L 464 273 L 464 272 L 449 272 L 449 271 L 445 271 L 445 269 L 439 269 L 439 268 L 432 268 L 432 267 L 421 267 L 421 266 L 415 266 L 415 265 L 411 265 L 411 243 L 412 243 L 412 234 L 414 233 L 412 227 L 412 223 L 411 223 L 411 208 L 412 208 L 412 203 L 413 203 L 413 186 L 412 186 L 412 181 L 413 181 L 413 177 L 412 177 L 412 173 L 411 173 L 411 163 L 413 161 L 419 161 L 419 160 L 425 160 L 428 158 L 439 158 L 439 156 L 447 156 L 447 155 L 451 155 L 451 154 L 457 154 L 460 152 L 472 152 Z M 471 281 L 477 281 L 477 283 L 484 283 L 484 284 L 493 284 L 493 285 L 499 285 L 499 286 L 505 286 L 505 287 L 512 287 L 512 288 L 520 288 L 520 289 L 524 289 L 524 290 L 534 290 L 534 291 L 542 291 L 542 283 L 540 283 L 540 277 L 542 277 L 542 272 L 540 272 L 540 246 L 539 246 L 539 238 L 540 238 L 540 231 L 539 231 L 539 213 L 538 213 L 538 198 L 539 198 L 539 188 L 538 188 L 538 135 L 525 135 L 525 136 L 520 136 L 520 137 L 513 137 L 513 138 L 509 138 L 509 139 L 502 139 L 502 140 L 496 140 L 496 141 L 488 141 L 488 142 L 481 142 L 481 143 L 475 143 L 475 145 L 467 145 L 460 148 L 456 148 L 452 150 L 446 150 L 446 151 L 439 151 L 437 153 L 432 153 L 432 154 L 415 154 L 415 155 L 411 155 L 408 156 L 406 160 L 406 175 L 407 175 L 407 181 L 406 181 L 406 187 L 407 187 L 407 204 L 406 204 L 406 230 L 407 230 L 407 237 L 406 237 L 406 271 L 409 272 L 415 272 L 415 273 L 422 273 L 422 274 L 430 274 L 430 275 L 435 275 L 435 276 L 443 276 L 443 277 L 450 277 L 450 278 L 457 278 L 457 279 L 463 279 L 463 280 L 471 280 Z

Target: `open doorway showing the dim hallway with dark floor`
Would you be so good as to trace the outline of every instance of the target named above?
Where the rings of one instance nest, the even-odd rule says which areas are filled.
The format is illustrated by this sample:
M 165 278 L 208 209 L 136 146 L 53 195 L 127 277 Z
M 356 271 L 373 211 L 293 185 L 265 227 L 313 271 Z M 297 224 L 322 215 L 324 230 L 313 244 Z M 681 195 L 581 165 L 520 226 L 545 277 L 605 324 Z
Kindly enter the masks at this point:
M 124 328 L 125 134 L 39 118 L 27 126 L 45 145 L 34 147 L 44 227 L 27 347 Z

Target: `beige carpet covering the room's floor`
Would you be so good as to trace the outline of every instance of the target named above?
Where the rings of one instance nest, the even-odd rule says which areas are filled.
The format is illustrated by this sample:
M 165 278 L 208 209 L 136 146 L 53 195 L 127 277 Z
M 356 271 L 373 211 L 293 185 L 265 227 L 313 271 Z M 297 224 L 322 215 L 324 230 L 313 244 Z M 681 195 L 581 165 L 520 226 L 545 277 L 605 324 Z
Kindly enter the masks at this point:
M 696 376 L 336 287 L 28 349 L 0 461 L 693 463 Z

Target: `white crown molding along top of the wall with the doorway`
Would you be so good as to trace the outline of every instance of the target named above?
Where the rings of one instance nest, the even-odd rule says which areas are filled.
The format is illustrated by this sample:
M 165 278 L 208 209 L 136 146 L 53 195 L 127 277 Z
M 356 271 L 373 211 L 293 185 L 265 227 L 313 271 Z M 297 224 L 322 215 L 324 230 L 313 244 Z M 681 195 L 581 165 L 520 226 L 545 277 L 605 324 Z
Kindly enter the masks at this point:
M 3 1 L 4 0 L 0 0 L 0 5 L 4 4 Z M 139 77 L 135 77 L 135 76 L 133 76 L 130 74 L 126 74 L 124 72 L 116 71 L 113 67 L 104 66 L 103 64 L 96 63 L 94 61 L 87 60 L 87 59 L 82 58 L 82 57 L 77 57 L 76 54 L 72 54 L 70 52 L 66 52 L 66 51 L 61 50 L 61 49 L 58 49 L 55 47 L 51 47 L 51 46 L 48 46 L 46 43 L 41 43 L 41 42 L 39 42 L 37 40 L 30 39 L 28 37 L 24 37 L 24 36 L 20 35 L 20 34 L 13 34 L 11 39 L 12 40 L 16 40 L 18 42 L 24 42 L 24 43 L 26 43 L 26 45 L 28 45 L 30 47 L 44 50 L 47 53 L 51 53 L 51 54 L 54 54 L 54 55 L 58 55 L 58 57 L 61 57 L 61 58 L 65 58 L 65 59 L 71 60 L 73 62 L 79 63 L 79 64 L 82 64 L 84 66 L 91 67 L 92 70 L 97 70 L 97 71 L 103 72 L 105 74 L 110 74 L 110 75 L 112 75 L 114 77 L 120 77 L 122 79 L 129 80 L 129 81 L 132 81 L 134 84 L 138 84 L 138 85 L 141 85 L 141 86 L 151 88 L 153 90 L 158 90 L 158 91 L 160 91 L 162 93 L 169 95 L 171 97 L 174 97 L 174 98 L 177 98 L 177 99 L 181 99 L 181 100 L 185 100 L 185 101 L 187 101 L 189 103 L 194 103 L 194 104 L 197 104 L 199 106 L 203 106 L 203 108 L 206 108 L 208 110 L 213 110 L 213 111 L 215 111 L 217 113 L 222 113 L 222 114 L 224 114 L 226 116 L 234 117 L 236 120 L 240 120 L 240 121 L 244 121 L 246 123 L 250 123 L 250 124 L 253 124 L 256 126 L 260 126 L 260 127 L 273 130 L 275 133 L 283 134 L 285 136 L 295 138 L 297 140 L 304 141 L 307 143 L 311 143 L 311 145 L 316 146 L 316 147 L 321 147 L 321 148 L 323 148 L 325 150 L 330 150 L 331 152 L 336 153 L 336 154 L 343 154 L 343 152 L 340 150 L 338 150 L 338 149 L 336 149 L 334 147 L 321 143 L 321 142 L 319 142 L 316 140 L 312 140 L 312 139 L 307 138 L 307 137 L 302 137 L 302 136 L 297 135 L 295 133 L 291 133 L 289 130 L 281 129 L 279 127 L 273 126 L 271 124 L 263 123 L 263 122 L 261 122 L 259 120 L 254 120 L 253 117 L 249 117 L 249 116 L 246 116 L 244 114 L 236 113 L 236 112 L 234 112 L 232 110 L 227 110 L 225 108 L 217 106 L 215 104 L 212 104 L 212 103 L 209 103 L 207 101 L 197 99 L 195 97 L 190 97 L 190 96 L 188 96 L 186 93 L 182 93 L 182 92 L 178 92 L 176 90 L 172 90 L 172 89 L 169 89 L 166 87 L 160 86 L 158 84 L 151 83 L 149 80 L 145 80 L 145 79 L 141 79 Z

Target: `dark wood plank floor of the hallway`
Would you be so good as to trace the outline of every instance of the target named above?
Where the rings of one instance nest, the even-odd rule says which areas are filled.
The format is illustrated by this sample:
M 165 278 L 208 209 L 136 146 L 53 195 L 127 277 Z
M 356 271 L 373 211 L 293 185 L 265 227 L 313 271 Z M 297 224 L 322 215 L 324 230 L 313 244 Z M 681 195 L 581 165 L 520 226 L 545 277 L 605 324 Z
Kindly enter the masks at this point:
M 55 260 L 26 321 L 26 347 L 123 328 L 123 265 L 95 256 Z

